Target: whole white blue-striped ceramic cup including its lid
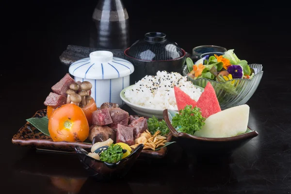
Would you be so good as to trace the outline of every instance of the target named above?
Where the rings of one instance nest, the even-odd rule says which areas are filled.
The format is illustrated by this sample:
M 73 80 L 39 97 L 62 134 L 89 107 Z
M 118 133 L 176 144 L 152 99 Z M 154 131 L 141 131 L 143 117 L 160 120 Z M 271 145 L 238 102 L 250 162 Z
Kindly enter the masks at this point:
M 91 97 L 97 107 L 104 102 L 122 105 L 120 92 L 129 86 L 133 65 L 125 59 L 113 57 L 110 51 L 94 51 L 89 56 L 70 65 L 69 73 L 75 81 L 92 83 Z

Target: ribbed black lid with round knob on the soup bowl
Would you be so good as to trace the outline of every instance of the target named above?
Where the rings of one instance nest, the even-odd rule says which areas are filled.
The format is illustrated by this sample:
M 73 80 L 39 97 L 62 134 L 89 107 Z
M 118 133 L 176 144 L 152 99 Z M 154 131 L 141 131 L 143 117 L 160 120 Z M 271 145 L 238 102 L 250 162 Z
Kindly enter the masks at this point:
M 127 55 L 144 61 L 167 61 L 182 57 L 184 52 L 177 43 L 169 42 L 165 33 L 149 32 L 132 44 Z

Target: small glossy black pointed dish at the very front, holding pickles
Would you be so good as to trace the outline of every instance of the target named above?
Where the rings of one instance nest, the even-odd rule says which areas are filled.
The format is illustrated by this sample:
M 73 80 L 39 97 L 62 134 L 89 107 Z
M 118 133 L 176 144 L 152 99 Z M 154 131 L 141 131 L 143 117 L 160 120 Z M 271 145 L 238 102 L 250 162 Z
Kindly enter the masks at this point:
M 110 180 L 123 178 L 130 170 L 136 159 L 144 148 L 143 144 L 138 145 L 131 154 L 116 163 L 98 161 L 88 156 L 88 152 L 80 146 L 75 146 L 78 158 L 84 168 L 89 172 L 89 176 L 97 180 Z

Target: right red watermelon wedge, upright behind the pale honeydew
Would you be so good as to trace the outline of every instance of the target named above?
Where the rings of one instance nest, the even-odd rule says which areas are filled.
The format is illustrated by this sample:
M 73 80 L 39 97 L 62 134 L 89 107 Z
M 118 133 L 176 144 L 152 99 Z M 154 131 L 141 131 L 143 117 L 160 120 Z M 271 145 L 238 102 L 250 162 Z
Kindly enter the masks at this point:
M 201 109 L 202 116 L 208 118 L 210 115 L 221 111 L 214 88 L 208 82 L 197 101 L 197 107 Z

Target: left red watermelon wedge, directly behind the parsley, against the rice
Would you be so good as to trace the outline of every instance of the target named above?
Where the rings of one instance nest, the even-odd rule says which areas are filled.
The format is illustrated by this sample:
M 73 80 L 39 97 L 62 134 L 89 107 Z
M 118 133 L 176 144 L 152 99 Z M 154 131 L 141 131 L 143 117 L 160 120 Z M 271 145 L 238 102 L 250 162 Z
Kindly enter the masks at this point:
M 188 94 L 183 92 L 179 87 L 175 86 L 174 92 L 178 111 L 184 109 L 186 105 L 192 105 L 192 107 L 196 106 L 197 102 L 192 99 Z

